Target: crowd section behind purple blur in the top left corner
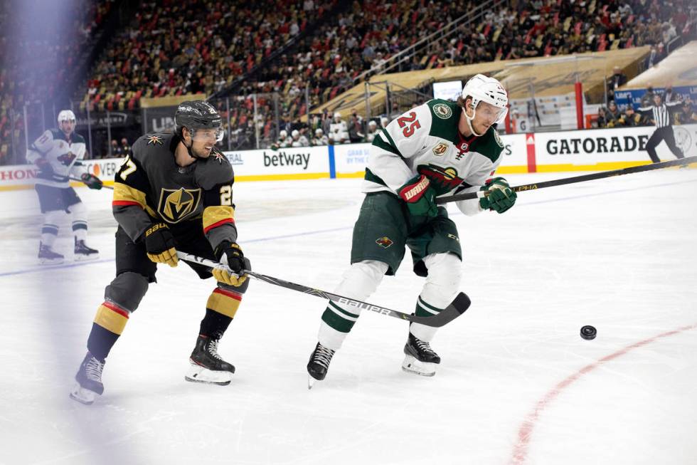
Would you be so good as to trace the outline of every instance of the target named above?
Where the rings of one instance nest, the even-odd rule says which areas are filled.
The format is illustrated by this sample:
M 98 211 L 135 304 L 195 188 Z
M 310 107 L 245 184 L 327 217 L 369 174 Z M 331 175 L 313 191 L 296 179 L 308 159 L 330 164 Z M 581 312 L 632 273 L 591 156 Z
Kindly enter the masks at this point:
M 41 15 L 22 14 L 22 7 L 29 8 L 31 4 L 48 14 L 51 8 L 57 8 L 68 20 L 44 21 L 46 18 Z M 75 0 L 65 11 L 65 2 L 53 6 L 1 2 L 0 164 L 13 161 L 7 160 L 13 141 L 24 145 L 23 105 L 50 101 L 69 87 L 76 60 L 112 5 L 113 0 Z

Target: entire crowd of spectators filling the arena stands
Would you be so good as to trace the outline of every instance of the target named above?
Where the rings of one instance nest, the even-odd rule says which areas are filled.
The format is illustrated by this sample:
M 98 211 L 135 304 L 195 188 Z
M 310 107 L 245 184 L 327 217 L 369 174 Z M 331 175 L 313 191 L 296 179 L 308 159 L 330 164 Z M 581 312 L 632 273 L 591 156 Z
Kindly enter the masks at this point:
M 70 64 L 75 49 L 90 40 L 111 5 L 112 0 L 96 4 L 78 0 L 73 27 L 55 31 L 52 36 L 57 39 L 51 43 L 21 43 L 16 56 L 43 58 L 46 66 L 54 68 L 57 63 Z M 97 59 L 76 98 L 81 107 L 89 105 L 92 110 L 135 110 L 144 97 L 211 95 L 254 70 L 253 79 L 231 89 L 228 100 L 216 102 L 233 146 L 250 148 L 252 141 L 276 142 L 283 129 L 289 134 L 305 130 L 311 140 L 314 133 L 309 132 L 325 128 L 300 124 L 300 117 L 381 73 L 395 55 L 452 21 L 471 18 L 473 11 L 477 19 L 460 21 L 445 38 L 437 35 L 425 41 L 408 62 L 393 70 L 643 45 L 652 46 L 646 65 L 654 66 L 666 56 L 671 41 L 696 36 L 697 11 L 689 0 L 512 0 L 497 9 L 471 0 L 354 0 L 349 8 L 344 6 L 339 0 L 140 4 L 132 21 Z M 6 16 L 8 9 L 0 9 L 0 15 Z M 69 41 L 66 36 L 80 40 Z M 271 59 L 286 46 L 286 53 Z M 2 58 L 5 55 L 3 51 Z M 0 86 L 15 90 L 9 97 L 2 93 L 3 146 L 9 131 L 21 130 L 9 122 L 8 109 L 21 111 L 22 101 L 28 100 L 16 90 L 31 88 L 34 95 L 49 100 L 61 85 L 60 75 L 35 82 L 31 74 L 13 74 L 11 70 L 16 69 L 0 70 Z M 41 67 L 37 70 L 40 76 Z M 322 117 L 332 119 L 327 116 Z M 367 127 L 361 133 L 365 131 Z

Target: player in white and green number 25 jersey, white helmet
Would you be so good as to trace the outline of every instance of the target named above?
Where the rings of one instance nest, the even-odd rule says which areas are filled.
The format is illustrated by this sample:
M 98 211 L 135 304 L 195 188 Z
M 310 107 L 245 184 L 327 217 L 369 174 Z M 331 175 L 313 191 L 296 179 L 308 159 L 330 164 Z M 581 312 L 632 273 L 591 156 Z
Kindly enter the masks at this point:
M 494 123 L 503 120 L 507 105 L 501 83 L 478 74 L 467 81 L 457 103 L 429 100 L 378 132 L 363 181 L 366 197 L 353 226 L 351 267 L 335 293 L 366 301 L 385 274 L 397 271 L 408 247 L 413 271 L 426 278 L 416 315 L 435 315 L 453 301 L 462 250 L 455 224 L 435 199 L 480 189 L 486 197 L 457 202 L 464 214 L 503 213 L 513 207 L 516 193 L 508 182 L 491 178 L 504 149 Z M 314 380 L 324 380 L 331 357 L 358 315 L 356 307 L 329 302 L 307 364 L 310 387 Z M 435 375 L 440 357 L 430 347 L 434 335 L 435 328 L 410 325 L 403 370 Z

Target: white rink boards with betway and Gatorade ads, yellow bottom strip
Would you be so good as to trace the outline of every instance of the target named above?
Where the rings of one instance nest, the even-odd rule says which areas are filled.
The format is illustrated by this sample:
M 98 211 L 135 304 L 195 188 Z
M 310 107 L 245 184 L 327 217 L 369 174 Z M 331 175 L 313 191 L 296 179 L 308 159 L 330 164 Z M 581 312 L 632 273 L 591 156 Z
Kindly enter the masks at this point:
M 534 132 L 503 135 L 504 160 L 499 174 L 533 172 L 602 171 L 649 163 L 645 151 L 654 127 Z M 697 125 L 674 127 L 676 144 L 686 156 L 697 155 Z M 238 181 L 362 177 L 370 144 L 295 147 L 280 150 L 225 152 Z M 673 160 L 664 142 L 656 148 L 661 160 Z M 113 178 L 123 158 L 86 160 L 88 172 Z M 0 190 L 28 189 L 33 185 L 33 165 L 0 167 Z M 75 183 L 76 186 L 82 185 Z

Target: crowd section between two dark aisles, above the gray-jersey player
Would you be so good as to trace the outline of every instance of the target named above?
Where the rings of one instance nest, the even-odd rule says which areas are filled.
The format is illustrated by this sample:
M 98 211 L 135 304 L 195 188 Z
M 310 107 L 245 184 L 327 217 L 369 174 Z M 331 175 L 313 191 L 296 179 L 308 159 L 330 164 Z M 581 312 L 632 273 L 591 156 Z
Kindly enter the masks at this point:
M 147 2 L 96 63 L 83 103 L 124 110 L 142 97 L 211 95 L 321 21 L 336 2 Z

